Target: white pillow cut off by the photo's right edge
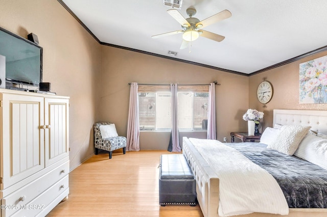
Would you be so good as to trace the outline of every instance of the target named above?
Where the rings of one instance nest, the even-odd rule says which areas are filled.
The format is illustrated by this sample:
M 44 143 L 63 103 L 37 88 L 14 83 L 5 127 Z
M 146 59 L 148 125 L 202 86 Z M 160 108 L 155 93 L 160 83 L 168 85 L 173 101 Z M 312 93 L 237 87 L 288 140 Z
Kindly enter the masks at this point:
M 294 155 L 327 170 L 327 139 L 308 133 Z

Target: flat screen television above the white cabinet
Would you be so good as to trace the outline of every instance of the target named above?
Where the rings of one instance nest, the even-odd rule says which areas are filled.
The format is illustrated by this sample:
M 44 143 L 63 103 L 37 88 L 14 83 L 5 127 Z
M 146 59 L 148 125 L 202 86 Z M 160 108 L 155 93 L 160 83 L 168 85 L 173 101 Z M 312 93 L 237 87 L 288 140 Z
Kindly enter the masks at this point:
M 6 57 L 6 83 L 39 87 L 42 50 L 39 45 L 0 27 L 0 55 Z

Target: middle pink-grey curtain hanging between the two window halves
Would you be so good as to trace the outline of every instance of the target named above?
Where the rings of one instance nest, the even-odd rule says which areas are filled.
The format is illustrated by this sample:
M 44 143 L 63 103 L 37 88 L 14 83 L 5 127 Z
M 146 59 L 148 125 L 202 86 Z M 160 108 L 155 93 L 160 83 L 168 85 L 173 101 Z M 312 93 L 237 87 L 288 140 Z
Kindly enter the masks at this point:
M 172 152 L 181 152 L 178 131 L 177 84 L 170 84 L 170 91 L 172 95 Z

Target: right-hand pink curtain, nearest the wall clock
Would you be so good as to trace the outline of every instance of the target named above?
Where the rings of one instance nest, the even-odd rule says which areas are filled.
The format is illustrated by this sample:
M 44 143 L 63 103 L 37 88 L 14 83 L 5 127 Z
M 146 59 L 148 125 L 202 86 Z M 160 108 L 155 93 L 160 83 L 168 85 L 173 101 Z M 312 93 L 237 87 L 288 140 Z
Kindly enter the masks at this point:
M 209 112 L 207 123 L 206 138 L 209 140 L 216 140 L 216 84 L 210 83 L 209 85 Z

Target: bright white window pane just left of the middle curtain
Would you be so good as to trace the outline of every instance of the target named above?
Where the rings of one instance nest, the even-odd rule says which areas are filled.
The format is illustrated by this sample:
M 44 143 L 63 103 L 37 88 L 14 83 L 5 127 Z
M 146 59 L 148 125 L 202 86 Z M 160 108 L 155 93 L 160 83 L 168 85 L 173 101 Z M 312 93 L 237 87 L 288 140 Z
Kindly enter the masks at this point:
M 156 93 L 156 130 L 171 130 L 171 93 Z

